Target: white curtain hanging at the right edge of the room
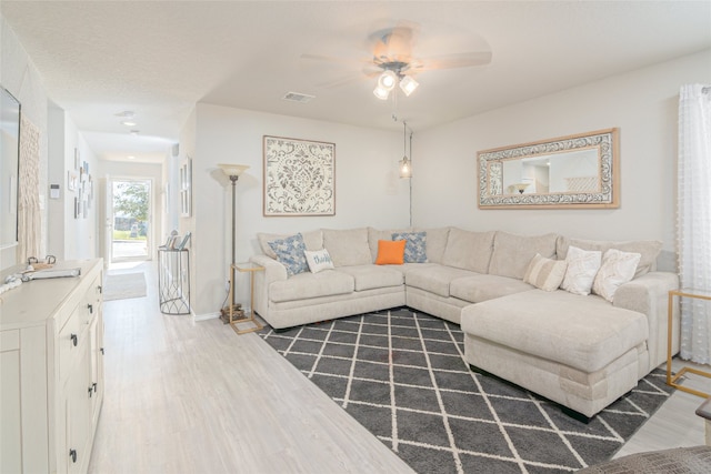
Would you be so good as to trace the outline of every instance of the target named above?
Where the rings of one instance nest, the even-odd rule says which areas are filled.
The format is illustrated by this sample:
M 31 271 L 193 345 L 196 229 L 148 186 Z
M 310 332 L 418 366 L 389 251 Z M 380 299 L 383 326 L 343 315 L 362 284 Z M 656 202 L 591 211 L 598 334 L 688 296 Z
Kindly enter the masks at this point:
M 681 286 L 711 293 L 711 87 L 679 94 L 678 231 Z M 681 357 L 711 363 L 711 301 L 681 299 Z

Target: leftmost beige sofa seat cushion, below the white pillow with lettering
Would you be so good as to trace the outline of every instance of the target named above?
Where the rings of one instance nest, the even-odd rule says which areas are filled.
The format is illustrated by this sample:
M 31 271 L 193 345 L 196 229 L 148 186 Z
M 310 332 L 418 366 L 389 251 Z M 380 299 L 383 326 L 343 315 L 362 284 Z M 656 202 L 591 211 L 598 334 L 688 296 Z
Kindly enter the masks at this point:
M 329 270 L 319 273 L 299 273 L 287 280 L 270 283 L 269 299 L 273 302 L 307 300 L 352 293 L 356 289 L 353 276 Z

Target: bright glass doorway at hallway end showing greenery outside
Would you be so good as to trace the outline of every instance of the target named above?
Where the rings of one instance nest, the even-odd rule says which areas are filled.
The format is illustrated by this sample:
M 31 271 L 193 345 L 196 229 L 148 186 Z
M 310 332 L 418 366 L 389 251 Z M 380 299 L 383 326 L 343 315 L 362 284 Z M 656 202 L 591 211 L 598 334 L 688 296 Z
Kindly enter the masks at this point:
M 151 260 L 151 180 L 111 179 L 109 190 L 111 262 Z

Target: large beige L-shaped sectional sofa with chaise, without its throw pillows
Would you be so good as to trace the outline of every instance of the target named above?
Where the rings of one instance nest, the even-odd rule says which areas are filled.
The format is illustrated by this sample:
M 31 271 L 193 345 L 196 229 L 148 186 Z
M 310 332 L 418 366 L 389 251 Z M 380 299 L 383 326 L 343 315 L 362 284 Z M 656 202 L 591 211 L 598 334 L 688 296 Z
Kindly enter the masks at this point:
M 425 262 L 374 263 L 379 241 L 408 232 L 425 236 Z M 660 242 L 459 228 L 322 229 L 301 235 L 306 250 L 328 251 L 332 270 L 290 274 L 272 249 L 286 235 L 258 234 L 263 254 L 251 258 L 264 268 L 254 274 L 254 310 L 277 330 L 407 305 L 461 324 L 464 359 L 472 369 L 529 389 L 582 417 L 597 414 L 665 361 L 667 297 L 679 280 L 657 271 Z M 560 270 L 561 263 L 553 261 L 564 261 L 573 246 L 575 252 L 617 249 L 639 254 L 634 278 L 615 286 L 608 300 L 527 282 L 534 258 Z M 673 320 L 678 341 L 678 314 Z

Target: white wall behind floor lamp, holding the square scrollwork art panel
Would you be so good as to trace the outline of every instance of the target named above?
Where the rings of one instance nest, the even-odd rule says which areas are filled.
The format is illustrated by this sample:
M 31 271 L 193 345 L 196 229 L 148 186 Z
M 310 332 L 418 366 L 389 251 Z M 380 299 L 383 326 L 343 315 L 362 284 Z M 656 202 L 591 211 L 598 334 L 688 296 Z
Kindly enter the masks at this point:
M 260 252 L 257 232 L 409 224 L 408 182 L 398 178 L 398 160 L 402 158 L 398 132 L 210 104 L 197 105 L 194 127 L 194 147 L 183 143 L 182 138 L 180 147 L 181 155 L 184 152 L 193 159 L 193 228 L 188 223 L 186 229 L 194 232 L 192 301 L 198 316 L 220 310 L 231 259 L 231 189 L 218 163 L 251 167 L 237 184 L 238 262 Z M 263 135 L 336 143 L 336 215 L 262 215 Z M 248 289 L 240 288 L 237 300 L 249 301 L 247 295 Z

